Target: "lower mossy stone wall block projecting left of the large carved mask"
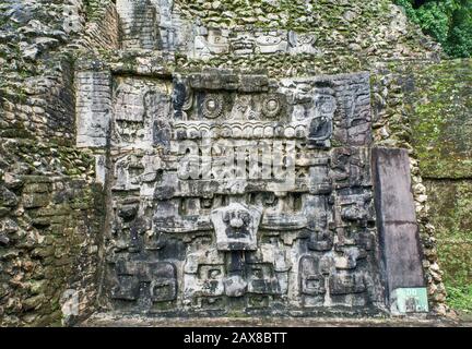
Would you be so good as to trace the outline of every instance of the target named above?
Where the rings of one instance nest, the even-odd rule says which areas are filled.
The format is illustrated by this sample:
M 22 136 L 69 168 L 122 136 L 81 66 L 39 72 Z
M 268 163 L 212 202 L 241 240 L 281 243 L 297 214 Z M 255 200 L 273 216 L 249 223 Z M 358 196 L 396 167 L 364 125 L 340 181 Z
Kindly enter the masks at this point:
M 61 324 L 90 313 L 103 212 L 101 190 L 91 185 L 95 161 L 22 140 L 2 139 L 0 155 L 2 325 Z M 81 176 L 64 174 L 73 172 Z

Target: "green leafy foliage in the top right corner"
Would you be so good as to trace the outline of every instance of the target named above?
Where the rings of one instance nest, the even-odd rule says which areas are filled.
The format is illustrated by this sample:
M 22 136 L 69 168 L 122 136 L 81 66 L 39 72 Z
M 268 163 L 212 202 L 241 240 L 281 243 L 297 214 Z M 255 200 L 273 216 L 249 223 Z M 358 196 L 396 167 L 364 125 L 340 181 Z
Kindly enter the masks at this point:
M 396 0 L 451 57 L 472 57 L 472 0 Z

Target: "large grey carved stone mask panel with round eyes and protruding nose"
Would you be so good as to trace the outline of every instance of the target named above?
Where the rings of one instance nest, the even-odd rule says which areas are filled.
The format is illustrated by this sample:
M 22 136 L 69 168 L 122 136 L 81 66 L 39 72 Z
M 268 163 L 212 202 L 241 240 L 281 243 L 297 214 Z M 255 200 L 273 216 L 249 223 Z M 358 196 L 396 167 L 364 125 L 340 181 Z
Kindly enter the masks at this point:
M 381 308 L 368 74 L 113 86 L 106 306 Z

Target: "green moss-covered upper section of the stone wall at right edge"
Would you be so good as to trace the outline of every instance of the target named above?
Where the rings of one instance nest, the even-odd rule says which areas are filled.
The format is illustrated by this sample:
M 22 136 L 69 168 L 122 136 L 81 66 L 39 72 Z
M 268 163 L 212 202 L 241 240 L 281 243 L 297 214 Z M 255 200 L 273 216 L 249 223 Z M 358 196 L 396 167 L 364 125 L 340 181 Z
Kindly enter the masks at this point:
M 413 144 L 424 176 L 471 178 L 472 60 L 415 67 Z

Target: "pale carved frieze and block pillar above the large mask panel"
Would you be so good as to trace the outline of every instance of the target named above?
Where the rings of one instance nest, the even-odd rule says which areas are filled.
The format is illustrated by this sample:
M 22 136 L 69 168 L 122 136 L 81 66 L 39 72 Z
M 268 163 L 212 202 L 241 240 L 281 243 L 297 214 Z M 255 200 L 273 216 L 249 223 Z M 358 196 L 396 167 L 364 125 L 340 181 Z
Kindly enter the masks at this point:
M 180 16 L 174 0 L 117 0 L 123 49 L 167 50 L 209 60 L 222 55 L 320 55 L 314 34 L 204 27 Z

